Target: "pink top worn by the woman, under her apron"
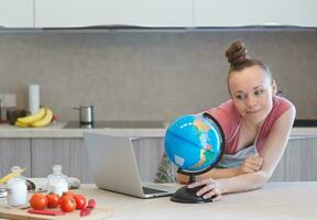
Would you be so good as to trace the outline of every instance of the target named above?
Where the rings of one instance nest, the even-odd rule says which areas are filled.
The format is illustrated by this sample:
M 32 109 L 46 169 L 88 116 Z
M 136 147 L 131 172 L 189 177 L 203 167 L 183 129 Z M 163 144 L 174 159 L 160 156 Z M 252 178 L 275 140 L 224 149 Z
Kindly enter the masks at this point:
M 263 148 L 264 142 L 271 131 L 274 121 L 292 106 L 293 103 L 283 97 L 273 97 L 273 108 L 266 117 L 264 124 L 262 125 L 258 135 L 256 142 L 254 143 L 258 152 Z M 225 103 L 205 112 L 211 114 L 220 123 L 223 130 L 226 140 L 225 153 L 236 154 L 238 152 L 237 148 L 241 117 L 233 106 L 232 100 L 228 100 Z

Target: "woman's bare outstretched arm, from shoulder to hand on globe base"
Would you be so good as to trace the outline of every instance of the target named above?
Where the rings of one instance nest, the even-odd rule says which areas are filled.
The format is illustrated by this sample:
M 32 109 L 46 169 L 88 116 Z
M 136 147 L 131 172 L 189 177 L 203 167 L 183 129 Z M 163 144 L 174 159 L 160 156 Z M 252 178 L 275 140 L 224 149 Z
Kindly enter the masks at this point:
M 206 185 L 198 191 L 198 195 L 209 191 L 205 195 L 207 198 L 215 194 L 247 191 L 262 187 L 272 176 L 286 148 L 294 118 L 295 108 L 292 107 L 274 122 L 264 147 L 260 152 L 260 157 L 263 158 L 261 170 L 217 180 L 206 178 L 189 185 L 189 187 Z

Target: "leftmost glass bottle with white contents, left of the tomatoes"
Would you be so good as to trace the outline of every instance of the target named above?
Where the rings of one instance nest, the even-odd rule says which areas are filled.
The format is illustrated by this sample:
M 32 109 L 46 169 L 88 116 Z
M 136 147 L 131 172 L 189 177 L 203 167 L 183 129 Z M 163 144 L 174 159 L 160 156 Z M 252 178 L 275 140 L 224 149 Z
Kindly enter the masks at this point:
M 20 166 L 12 166 L 11 172 L 20 172 Z M 9 189 L 9 195 L 7 197 L 7 202 L 9 206 L 19 207 L 28 204 L 28 186 L 26 178 L 21 174 L 14 178 L 11 178 L 7 183 L 7 188 Z

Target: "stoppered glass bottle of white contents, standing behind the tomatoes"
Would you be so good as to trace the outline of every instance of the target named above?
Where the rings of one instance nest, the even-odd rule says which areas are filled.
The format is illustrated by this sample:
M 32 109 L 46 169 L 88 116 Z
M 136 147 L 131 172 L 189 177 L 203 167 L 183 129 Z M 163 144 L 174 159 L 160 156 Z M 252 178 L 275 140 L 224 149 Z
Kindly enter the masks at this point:
M 62 196 L 68 191 L 67 176 L 62 173 L 62 165 L 53 166 L 53 174 L 47 177 L 47 191 Z

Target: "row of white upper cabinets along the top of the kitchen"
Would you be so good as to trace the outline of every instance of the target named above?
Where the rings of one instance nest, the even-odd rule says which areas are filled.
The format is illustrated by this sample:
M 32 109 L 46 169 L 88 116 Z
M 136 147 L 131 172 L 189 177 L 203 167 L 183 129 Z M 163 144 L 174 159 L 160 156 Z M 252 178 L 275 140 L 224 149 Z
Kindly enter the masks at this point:
M 0 0 L 0 28 L 317 28 L 316 0 Z

